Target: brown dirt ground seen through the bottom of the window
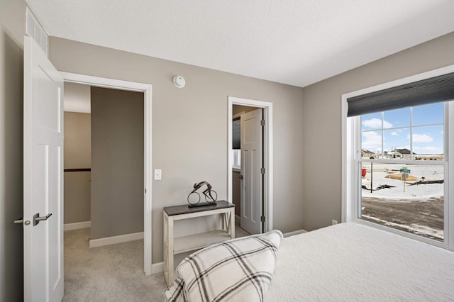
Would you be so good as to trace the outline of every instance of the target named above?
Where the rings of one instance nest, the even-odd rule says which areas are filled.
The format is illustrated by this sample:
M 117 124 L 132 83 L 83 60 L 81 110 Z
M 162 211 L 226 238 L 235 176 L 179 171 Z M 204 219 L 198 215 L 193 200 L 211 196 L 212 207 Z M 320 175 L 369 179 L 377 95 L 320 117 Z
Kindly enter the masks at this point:
M 429 201 L 409 199 L 387 201 L 381 198 L 362 196 L 362 219 L 382 225 L 392 225 L 393 228 L 443 240 L 443 198 L 431 198 Z M 415 230 L 399 225 L 418 225 L 421 227 L 417 227 L 419 230 Z M 425 232 L 424 228 L 438 230 L 438 232 Z M 438 235 L 435 235 L 435 233 Z

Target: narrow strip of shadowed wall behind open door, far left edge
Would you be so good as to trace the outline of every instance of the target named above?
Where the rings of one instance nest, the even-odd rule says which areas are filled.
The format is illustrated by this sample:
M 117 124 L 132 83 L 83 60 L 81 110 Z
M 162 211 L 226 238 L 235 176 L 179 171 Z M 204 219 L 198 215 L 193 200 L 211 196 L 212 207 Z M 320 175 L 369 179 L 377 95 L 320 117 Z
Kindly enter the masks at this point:
M 0 4 L 0 301 L 23 299 L 23 33 L 25 3 Z

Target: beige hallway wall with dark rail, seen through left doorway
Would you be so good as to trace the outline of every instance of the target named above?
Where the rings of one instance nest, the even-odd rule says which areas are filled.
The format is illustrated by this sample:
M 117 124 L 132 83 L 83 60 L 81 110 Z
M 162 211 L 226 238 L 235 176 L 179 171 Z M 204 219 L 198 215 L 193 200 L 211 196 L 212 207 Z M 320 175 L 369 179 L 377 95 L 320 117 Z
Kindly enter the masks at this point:
M 90 167 L 91 116 L 89 113 L 65 112 L 65 169 Z M 91 172 L 65 172 L 64 177 L 65 223 L 90 221 Z

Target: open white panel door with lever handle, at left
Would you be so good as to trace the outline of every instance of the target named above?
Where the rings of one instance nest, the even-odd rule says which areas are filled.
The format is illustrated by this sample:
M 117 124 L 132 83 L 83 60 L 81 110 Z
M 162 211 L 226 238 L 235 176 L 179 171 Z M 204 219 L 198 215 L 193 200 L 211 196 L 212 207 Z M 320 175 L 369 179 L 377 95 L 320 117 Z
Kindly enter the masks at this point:
M 63 78 L 29 37 L 23 79 L 24 301 L 62 301 Z

